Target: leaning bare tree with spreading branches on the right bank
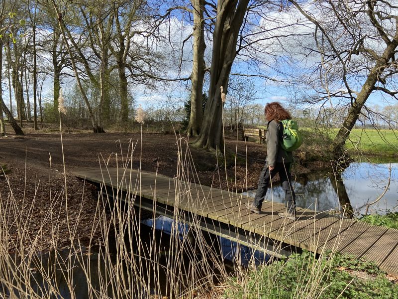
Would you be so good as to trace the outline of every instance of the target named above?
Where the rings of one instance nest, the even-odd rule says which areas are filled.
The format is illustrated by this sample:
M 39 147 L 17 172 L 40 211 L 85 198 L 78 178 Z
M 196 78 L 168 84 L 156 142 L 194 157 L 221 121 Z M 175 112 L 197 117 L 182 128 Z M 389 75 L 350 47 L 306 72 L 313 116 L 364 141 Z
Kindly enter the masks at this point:
M 316 87 L 318 99 L 348 102 L 332 145 L 337 158 L 342 155 L 344 144 L 363 109 L 369 112 L 366 101 L 372 93 L 398 99 L 397 6 L 384 0 L 322 0 L 305 7 L 295 0 L 289 1 L 315 28 L 316 48 L 313 51 L 321 57 L 320 83 Z M 339 85 L 341 87 L 337 88 Z M 324 96 L 319 96 L 321 92 Z M 313 99 L 314 102 L 318 101 Z

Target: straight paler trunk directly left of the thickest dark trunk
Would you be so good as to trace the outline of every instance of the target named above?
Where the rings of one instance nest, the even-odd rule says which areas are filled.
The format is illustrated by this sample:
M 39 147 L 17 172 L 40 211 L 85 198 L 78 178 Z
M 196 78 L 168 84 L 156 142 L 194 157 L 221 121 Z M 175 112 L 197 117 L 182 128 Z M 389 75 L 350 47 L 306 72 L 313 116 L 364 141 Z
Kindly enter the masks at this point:
M 191 74 L 191 115 L 188 124 L 187 134 L 189 136 L 199 136 L 202 125 L 202 95 L 204 78 L 204 0 L 191 0 L 194 7 L 194 58 Z

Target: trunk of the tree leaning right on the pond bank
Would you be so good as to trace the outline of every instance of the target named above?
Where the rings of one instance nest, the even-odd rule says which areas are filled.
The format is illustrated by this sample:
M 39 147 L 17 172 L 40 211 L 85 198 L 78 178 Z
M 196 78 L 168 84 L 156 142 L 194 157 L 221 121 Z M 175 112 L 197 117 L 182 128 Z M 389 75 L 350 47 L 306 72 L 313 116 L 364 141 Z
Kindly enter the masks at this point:
M 380 74 L 383 73 L 386 65 L 390 59 L 395 55 L 395 49 L 397 48 L 398 41 L 391 42 L 384 50 L 383 55 L 377 60 L 375 66 L 372 68 L 364 85 L 361 88 L 355 102 L 353 102 L 351 108 L 348 110 L 348 114 L 341 126 L 339 132 L 333 140 L 332 153 L 335 158 L 342 156 L 344 152 L 344 145 L 354 127 L 356 121 L 359 118 L 362 107 L 365 105 L 372 91 L 375 90 L 375 85 L 378 81 Z

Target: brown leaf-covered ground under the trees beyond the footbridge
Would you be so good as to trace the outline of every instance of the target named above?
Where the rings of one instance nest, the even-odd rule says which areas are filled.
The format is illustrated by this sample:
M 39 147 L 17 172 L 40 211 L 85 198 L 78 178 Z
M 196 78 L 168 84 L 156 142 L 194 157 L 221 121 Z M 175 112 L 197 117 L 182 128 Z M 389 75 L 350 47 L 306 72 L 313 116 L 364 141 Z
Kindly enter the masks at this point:
M 8 132 L 10 130 L 9 128 Z M 0 217 L 6 220 L 2 225 L 6 222 L 11 232 L 8 240 L 10 252 L 25 242 L 30 244 L 27 246 L 45 250 L 50 247 L 54 235 L 59 246 L 68 243 L 69 231 L 62 196 L 65 186 L 63 154 L 69 222 L 77 223 L 77 238 L 83 241 L 88 240 L 92 234 L 98 190 L 95 185 L 76 178 L 72 174 L 74 170 L 100 167 L 100 163 L 102 167 L 105 163 L 110 167 L 120 167 L 133 149 L 133 169 L 138 169 L 141 164 L 144 171 L 175 177 L 179 152 L 182 156 L 192 156 L 194 163 L 196 158 L 203 158 L 191 147 L 187 151 L 186 138 L 174 134 L 143 133 L 141 140 L 140 133 L 92 134 L 89 131 L 74 131 L 73 134 L 63 133 L 62 150 L 59 132 L 34 132 L 29 128 L 24 128 L 24 131 L 26 135 L 22 137 L 7 134 L 0 138 L 0 166 L 5 172 L 5 175 L 3 171 L 0 174 L 0 201 L 2 207 L 5 207 L 0 209 Z M 217 188 L 227 188 L 229 184 L 230 190 L 232 187 L 240 192 L 242 189 L 257 187 L 266 147 L 236 139 L 236 136 L 227 136 L 226 147 L 238 152 L 241 157 L 247 156 L 247 168 L 245 164 L 236 165 L 228 167 L 225 172 L 225 169 L 217 170 L 214 164 L 213 169 L 197 170 L 196 175 L 201 184 Z M 300 175 L 323 167 L 319 162 L 309 164 L 306 168 L 296 165 L 293 172 Z M 49 217 L 48 211 L 57 213 L 56 231 L 43 229 L 43 219 L 54 219 Z M 24 234 L 20 232 L 21 227 L 27 228 Z M 32 238 L 38 232 L 39 240 L 31 245 Z

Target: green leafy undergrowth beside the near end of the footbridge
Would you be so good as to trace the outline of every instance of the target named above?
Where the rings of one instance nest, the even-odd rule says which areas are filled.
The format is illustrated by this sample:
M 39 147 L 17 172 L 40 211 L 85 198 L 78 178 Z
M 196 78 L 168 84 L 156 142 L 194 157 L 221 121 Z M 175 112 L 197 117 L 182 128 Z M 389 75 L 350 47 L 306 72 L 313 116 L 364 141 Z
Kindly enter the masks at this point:
M 362 273 L 366 278 L 352 273 Z M 363 259 L 338 253 L 317 259 L 313 253 L 304 251 L 250 271 L 244 283 L 233 279 L 225 297 L 387 299 L 398 297 L 398 287 L 376 265 Z

